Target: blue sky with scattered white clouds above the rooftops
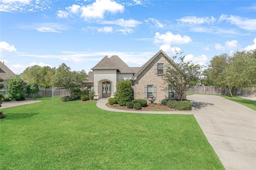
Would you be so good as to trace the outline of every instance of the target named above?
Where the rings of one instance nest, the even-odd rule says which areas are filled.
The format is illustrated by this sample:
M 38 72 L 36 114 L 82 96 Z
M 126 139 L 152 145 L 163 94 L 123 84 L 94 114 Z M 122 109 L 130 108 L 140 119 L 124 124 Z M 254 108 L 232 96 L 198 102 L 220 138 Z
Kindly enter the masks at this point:
M 0 0 L 0 61 L 16 74 L 62 63 L 89 72 L 106 55 L 138 67 L 160 49 L 204 66 L 256 49 L 256 1 Z

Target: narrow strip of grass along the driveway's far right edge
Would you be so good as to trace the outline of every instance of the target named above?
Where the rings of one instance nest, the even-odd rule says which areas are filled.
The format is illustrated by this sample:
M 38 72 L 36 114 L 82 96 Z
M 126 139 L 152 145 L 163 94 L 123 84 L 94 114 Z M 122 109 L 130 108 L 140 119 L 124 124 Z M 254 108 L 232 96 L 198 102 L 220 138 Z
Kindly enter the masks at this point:
M 187 93 L 187 95 L 192 95 L 192 94 L 204 94 L 204 93 Z M 216 95 L 216 94 L 205 94 L 205 95 Z M 242 104 L 242 105 L 244 105 L 246 107 L 249 107 L 250 109 L 253 109 L 253 110 L 256 111 L 256 102 L 255 101 L 240 98 L 240 97 L 237 97 L 237 96 L 233 96 L 233 97 L 225 96 L 225 95 L 216 95 L 216 96 L 221 96 L 222 98 L 226 98 L 226 99 L 231 100 L 233 102 Z

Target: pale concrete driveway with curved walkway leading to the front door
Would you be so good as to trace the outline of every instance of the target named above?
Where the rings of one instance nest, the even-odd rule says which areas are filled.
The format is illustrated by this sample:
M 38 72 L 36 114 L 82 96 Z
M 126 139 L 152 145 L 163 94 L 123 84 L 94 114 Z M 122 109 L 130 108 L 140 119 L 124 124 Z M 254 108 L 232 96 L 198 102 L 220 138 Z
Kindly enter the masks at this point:
M 256 170 L 256 111 L 220 96 L 187 96 L 192 111 L 124 111 L 106 106 L 101 109 L 130 113 L 193 114 L 204 135 L 227 170 Z

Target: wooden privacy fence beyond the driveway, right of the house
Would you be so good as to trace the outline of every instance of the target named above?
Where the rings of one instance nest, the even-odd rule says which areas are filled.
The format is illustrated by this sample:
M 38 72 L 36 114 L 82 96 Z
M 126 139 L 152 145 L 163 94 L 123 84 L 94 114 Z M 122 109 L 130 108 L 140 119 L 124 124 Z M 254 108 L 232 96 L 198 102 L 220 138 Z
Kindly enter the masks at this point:
M 187 90 L 187 93 L 205 93 L 205 94 L 222 94 L 222 95 L 228 95 L 228 89 L 227 88 L 220 88 L 215 86 L 194 86 L 192 88 L 189 88 Z M 237 96 L 250 96 L 253 95 L 252 89 L 235 89 L 234 95 Z

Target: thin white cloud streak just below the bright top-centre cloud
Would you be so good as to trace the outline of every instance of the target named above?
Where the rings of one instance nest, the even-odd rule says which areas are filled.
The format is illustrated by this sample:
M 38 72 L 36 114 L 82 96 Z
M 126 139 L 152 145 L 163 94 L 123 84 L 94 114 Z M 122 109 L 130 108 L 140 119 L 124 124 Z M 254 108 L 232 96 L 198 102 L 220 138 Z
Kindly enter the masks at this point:
M 118 20 L 114 21 L 102 21 L 101 24 L 113 24 L 113 25 L 120 25 L 122 27 L 136 27 L 137 25 L 141 24 L 142 22 L 130 19 L 130 20 L 124 20 L 123 18 L 120 18 Z

